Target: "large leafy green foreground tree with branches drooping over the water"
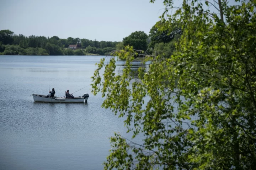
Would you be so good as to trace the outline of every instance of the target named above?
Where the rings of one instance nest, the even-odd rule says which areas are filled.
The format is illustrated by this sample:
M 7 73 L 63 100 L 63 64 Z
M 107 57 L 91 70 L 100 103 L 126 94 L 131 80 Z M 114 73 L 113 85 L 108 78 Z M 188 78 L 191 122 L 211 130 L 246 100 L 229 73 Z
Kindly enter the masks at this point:
M 139 68 L 137 81 L 130 77 L 133 47 L 116 52 L 126 60 L 123 74 L 114 57 L 98 63 L 92 93 L 126 118 L 133 137 L 144 135 L 142 143 L 111 137 L 105 169 L 255 169 L 256 3 L 227 3 L 183 1 L 164 18 L 173 4 L 164 1 L 161 22 L 179 25 L 182 36 L 170 58 L 145 57 L 151 64 Z

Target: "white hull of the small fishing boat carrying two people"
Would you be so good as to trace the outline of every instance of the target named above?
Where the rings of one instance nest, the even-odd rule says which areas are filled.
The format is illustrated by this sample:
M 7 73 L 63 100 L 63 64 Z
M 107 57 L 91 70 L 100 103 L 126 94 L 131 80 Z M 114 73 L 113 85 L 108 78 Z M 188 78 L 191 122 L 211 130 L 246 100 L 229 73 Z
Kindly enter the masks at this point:
M 88 97 L 74 97 L 74 98 L 61 98 L 61 97 L 47 97 L 46 95 L 32 94 L 35 102 L 46 102 L 46 103 L 82 103 L 87 102 Z

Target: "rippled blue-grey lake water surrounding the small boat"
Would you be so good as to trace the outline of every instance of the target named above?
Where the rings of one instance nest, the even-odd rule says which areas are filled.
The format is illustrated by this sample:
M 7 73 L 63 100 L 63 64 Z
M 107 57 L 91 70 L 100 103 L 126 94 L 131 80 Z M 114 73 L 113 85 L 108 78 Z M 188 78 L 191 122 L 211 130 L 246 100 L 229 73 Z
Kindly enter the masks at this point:
M 0 56 L 0 170 L 103 169 L 108 138 L 115 131 L 130 135 L 123 119 L 101 108 L 101 95 L 90 93 L 102 57 Z M 122 72 L 123 62 L 117 64 Z M 88 103 L 33 101 L 32 93 L 48 94 L 53 87 L 55 96 L 85 87 L 74 96 L 88 93 Z

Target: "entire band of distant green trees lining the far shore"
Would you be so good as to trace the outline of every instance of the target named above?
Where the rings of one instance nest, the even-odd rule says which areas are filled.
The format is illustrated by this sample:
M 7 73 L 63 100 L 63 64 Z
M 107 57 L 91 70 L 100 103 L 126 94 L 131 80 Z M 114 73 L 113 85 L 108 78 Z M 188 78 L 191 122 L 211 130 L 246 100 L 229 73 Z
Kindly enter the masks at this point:
M 125 46 L 133 46 L 136 50 L 147 51 L 154 55 L 169 58 L 175 50 L 175 44 L 182 35 L 179 27 L 169 30 L 159 29 L 156 23 L 149 32 L 135 31 L 123 38 L 122 42 L 97 41 L 96 39 L 80 39 L 69 37 L 60 39 L 58 36 L 16 35 L 10 30 L 0 31 L 0 54 L 3 55 L 110 55 L 111 51 L 122 50 Z M 69 45 L 77 45 L 73 50 Z M 138 55 L 139 56 L 139 55 Z

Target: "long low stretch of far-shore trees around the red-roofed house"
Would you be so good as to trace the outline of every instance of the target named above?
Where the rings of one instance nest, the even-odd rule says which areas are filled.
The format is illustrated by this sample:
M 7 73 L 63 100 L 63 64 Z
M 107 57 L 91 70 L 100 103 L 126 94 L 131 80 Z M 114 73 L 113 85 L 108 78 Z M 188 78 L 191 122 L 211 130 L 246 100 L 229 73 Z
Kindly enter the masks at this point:
M 58 36 L 24 36 L 10 30 L 0 31 L 0 53 L 3 55 L 85 55 L 93 53 L 107 55 L 116 50 L 117 41 L 97 41 Z M 69 45 L 78 45 L 81 49 L 69 49 Z

